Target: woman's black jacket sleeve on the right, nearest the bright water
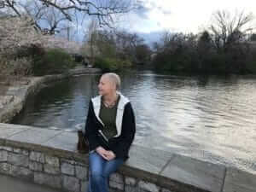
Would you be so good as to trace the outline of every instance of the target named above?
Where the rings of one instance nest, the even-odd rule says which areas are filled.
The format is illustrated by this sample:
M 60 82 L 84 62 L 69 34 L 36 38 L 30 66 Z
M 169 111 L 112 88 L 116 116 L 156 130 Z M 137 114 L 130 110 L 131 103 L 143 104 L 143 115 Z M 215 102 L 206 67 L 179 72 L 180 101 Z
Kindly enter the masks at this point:
M 120 143 L 113 149 L 113 153 L 116 157 L 126 158 L 128 157 L 131 143 L 133 142 L 136 132 L 136 123 L 131 103 L 127 103 L 125 106 L 125 112 L 123 115 L 122 132 L 120 135 Z

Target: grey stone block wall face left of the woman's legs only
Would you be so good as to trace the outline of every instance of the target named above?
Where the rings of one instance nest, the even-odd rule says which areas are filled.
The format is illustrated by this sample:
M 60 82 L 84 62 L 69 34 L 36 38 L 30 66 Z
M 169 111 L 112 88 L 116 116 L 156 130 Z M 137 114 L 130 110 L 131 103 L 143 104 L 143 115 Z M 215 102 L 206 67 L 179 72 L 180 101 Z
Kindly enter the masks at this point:
M 68 192 L 85 191 L 88 165 L 42 152 L 0 146 L 0 172 Z

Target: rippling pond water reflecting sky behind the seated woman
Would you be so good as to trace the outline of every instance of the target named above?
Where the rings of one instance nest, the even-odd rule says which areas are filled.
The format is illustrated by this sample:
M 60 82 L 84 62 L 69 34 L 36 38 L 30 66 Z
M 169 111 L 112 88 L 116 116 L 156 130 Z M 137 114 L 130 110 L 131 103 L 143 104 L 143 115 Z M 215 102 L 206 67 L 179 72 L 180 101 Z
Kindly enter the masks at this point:
M 99 75 L 50 84 L 14 123 L 73 131 L 84 127 Z M 256 78 L 123 73 L 135 109 L 135 143 L 256 173 Z

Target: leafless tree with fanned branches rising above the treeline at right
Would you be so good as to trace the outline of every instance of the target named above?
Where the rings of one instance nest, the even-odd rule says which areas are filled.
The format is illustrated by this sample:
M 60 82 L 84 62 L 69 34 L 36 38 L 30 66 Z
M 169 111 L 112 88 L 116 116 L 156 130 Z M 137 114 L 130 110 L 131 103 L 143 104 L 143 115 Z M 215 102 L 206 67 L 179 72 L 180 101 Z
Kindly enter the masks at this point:
M 250 26 L 253 20 L 252 14 L 236 12 L 231 15 L 226 10 L 218 10 L 212 15 L 212 25 L 209 31 L 212 33 L 212 41 L 216 48 L 228 49 L 230 44 L 241 41 L 252 30 Z

